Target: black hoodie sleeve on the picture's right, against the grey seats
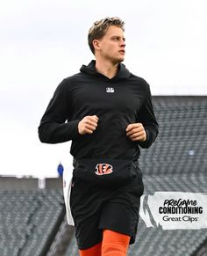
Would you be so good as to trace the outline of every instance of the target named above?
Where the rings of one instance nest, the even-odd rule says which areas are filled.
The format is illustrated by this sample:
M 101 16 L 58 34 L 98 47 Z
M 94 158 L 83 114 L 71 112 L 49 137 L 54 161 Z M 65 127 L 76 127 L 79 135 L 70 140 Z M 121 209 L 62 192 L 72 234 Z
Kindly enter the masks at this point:
M 146 130 L 146 141 L 139 142 L 139 146 L 141 148 L 149 148 L 153 142 L 155 141 L 159 131 L 159 125 L 156 121 L 154 112 L 153 112 L 153 104 L 152 104 L 152 96 L 150 92 L 149 85 L 148 86 L 148 96 L 139 111 L 138 122 L 142 123 Z

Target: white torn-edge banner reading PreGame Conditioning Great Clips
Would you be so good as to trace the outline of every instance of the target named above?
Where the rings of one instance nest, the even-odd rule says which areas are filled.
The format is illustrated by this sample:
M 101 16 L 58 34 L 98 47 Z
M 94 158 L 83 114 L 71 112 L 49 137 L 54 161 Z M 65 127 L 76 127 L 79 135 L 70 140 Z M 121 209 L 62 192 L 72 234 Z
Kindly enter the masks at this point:
M 204 229 L 207 228 L 207 194 L 156 192 L 143 195 L 139 215 L 147 227 Z

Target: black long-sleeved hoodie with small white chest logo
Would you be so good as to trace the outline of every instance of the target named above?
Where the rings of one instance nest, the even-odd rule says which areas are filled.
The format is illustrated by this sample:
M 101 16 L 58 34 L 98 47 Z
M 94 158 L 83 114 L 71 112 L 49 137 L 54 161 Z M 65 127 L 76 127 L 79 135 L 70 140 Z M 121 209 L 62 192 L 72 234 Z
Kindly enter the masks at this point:
M 39 139 L 42 143 L 72 140 L 70 152 L 77 159 L 136 160 L 139 146 L 150 147 L 158 134 L 149 85 L 124 64 L 111 79 L 98 73 L 95 64 L 82 65 L 80 73 L 59 84 L 40 121 Z M 99 118 L 96 130 L 80 135 L 78 122 L 94 114 Z M 132 142 L 126 136 L 127 125 L 135 122 L 146 129 L 145 142 Z

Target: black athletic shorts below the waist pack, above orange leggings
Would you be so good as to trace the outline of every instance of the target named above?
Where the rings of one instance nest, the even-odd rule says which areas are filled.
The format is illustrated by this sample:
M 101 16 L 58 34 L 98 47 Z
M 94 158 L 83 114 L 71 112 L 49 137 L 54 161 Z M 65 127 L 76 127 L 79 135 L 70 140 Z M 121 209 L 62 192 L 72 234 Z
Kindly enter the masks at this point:
M 143 191 L 141 171 L 127 185 L 113 188 L 95 187 L 73 178 L 70 207 L 78 248 L 88 249 L 101 242 L 105 229 L 130 236 L 133 244 Z

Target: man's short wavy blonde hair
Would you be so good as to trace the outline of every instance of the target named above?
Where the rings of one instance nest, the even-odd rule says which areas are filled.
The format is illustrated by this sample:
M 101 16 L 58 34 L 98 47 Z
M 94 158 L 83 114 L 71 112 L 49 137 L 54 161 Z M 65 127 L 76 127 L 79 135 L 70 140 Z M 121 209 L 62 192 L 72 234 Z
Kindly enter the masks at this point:
M 94 22 L 93 26 L 90 27 L 89 34 L 88 34 L 88 43 L 89 43 L 89 48 L 91 52 L 93 54 L 95 53 L 93 40 L 101 39 L 107 32 L 109 26 L 118 26 L 123 31 L 125 31 L 124 25 L 125 25 L 125 22 L 118 17 L 102 18 Z

